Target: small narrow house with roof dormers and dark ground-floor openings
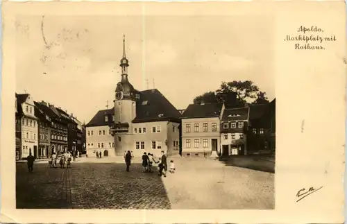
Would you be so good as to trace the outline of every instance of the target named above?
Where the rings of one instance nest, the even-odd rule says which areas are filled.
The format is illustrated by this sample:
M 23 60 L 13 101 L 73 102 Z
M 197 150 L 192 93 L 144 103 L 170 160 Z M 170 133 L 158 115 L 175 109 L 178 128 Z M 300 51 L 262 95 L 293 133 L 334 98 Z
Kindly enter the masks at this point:
M 249 107 L 225 109 L 221 115 L 221 156 L 247 155 Z

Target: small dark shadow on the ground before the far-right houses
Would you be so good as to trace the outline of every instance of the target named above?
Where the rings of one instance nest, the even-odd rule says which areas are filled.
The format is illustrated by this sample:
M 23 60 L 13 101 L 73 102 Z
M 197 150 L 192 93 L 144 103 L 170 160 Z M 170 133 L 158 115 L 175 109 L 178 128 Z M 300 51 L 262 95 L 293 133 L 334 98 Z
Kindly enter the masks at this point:
M 274 158 L 266 155 L 235 155 L 223 157 L 219 161 L 226 164 L 226 166 L 237 166 L 255 171 L 275 173 L 276 162 Z

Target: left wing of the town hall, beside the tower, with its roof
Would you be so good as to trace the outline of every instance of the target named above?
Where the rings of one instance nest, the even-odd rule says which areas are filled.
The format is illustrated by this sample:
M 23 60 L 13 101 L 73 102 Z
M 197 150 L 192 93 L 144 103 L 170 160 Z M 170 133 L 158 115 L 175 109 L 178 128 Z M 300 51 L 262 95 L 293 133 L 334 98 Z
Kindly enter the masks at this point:
M 96 157 L 101 153 L 103 157 L 115 157 L 114 137 L 110 133 L 110 126 L 114 123 L 114 109 L 100 110 L 85 126 L 86 150 L 88 157 Z

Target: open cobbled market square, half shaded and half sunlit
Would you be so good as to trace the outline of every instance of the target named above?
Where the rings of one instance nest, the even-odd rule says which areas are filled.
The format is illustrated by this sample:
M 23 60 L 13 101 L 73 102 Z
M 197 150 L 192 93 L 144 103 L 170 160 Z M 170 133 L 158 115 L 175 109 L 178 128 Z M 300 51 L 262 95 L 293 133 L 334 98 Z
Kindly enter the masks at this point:
M 17 164 L 17 208 L 273 209 L 274 174 L 203 158 L 174 158 L 176 173 L 159 178 L 132 164 L 76 162 L 71 169 Z

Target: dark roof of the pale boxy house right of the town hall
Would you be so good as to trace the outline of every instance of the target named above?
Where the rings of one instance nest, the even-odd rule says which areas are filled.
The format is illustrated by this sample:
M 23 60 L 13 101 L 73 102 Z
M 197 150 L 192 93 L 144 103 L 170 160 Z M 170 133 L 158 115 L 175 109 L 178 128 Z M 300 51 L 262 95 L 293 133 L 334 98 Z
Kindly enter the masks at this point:
M 190 104 L 182 118 L 219 117 L 223 103 Z

